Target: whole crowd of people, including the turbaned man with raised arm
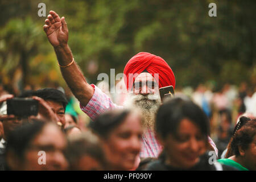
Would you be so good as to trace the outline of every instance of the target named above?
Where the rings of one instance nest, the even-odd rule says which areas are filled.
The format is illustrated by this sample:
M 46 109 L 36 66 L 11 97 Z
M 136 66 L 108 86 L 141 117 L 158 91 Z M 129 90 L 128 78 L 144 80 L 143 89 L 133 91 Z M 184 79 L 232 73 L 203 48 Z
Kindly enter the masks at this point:
M 166 61 L 140 52 L 118 85 L 127 92 L 112 95 L 108 86 L 86 81 L 64 17 L 50 11 L 44 31 L 72 94 L 1 90 L 1 170 L 256 170 L 256 92 L 244 83 L 218 93 L 205 85 L 175 89 Z M 175 94 L 160 97 L 167 86 Z M 37 113 L 9 114 L 6 102 L 14 98 L 32 98 Z

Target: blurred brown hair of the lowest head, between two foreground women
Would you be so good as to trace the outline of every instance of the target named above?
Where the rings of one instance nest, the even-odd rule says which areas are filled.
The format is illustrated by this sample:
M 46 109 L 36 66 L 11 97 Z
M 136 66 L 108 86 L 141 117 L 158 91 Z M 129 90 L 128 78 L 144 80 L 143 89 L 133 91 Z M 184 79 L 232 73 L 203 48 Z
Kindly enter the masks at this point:
M 90 156 L 100 162 L 102 167 L 106 166 L 104 150 L 101 147 L 100 140 L 90 132 L 76 138 L 69 138 L 65 155 L 72 170 L 77 170 L 76 164 L 82 156 Z

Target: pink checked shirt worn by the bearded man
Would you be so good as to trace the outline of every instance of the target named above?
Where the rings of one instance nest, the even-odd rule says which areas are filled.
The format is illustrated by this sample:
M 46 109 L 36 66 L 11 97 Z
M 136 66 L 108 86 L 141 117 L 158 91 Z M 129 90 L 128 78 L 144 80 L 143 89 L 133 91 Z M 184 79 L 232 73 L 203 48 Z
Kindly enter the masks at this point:
M 92 121 L 94 121 L 97 115 L 104 113 L 104 111 L 106 110 L 123 108 L 123 106 L 118 106 L 114 104 L 114 102 L 97 86 L 93 84 L 91 86 L 94 88 L 93 97 L 90 99 L 86 106 L 82 106 L 80 104 L 80 108 L 92 119 Z M 210 139 L 210 137 L 208 137 L 208 139 L 209 142 L 214 147 L 216 154 L 218 154 L 218 150 L 214 142 L 212 141 L 212 139 Z M 155 133 L 150 129 L 144 131 L 142 136 L 142 148 L 141 151 L 139 152 L 139 156 L 141 158 L 158 158 L 158 155 L 160 154 L 161 151 L 162 146 L 160 145 L 158 140 L 156 140 Z

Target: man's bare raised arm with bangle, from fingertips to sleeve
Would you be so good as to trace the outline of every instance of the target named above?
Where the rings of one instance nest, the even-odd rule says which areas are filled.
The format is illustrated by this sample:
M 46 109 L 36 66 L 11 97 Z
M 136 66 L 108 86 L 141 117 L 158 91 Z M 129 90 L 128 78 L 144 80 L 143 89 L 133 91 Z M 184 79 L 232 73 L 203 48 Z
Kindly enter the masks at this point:
M 81 104 L 87 105 L 94 89 L 86 82 L 80 68 L 73 61 L 71 49 L 68 47 L 68 27 L 65 18 L 60 18 L 54 11 L 49 11 L 43 28 L 55 50 L 64 80 Z

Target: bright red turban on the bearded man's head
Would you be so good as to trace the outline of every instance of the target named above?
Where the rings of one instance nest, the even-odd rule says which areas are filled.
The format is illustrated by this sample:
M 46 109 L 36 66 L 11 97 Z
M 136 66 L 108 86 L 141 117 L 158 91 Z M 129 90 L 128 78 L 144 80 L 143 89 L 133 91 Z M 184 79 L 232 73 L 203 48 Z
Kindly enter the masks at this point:
M 170 85 L 174 86 L 175 88 L 174 73 L 166 61 L 164 61 L 162 57 L 152 55 L 151 53 L 139 52 L 137 55 L 131 57 L 131 59 L 126 64 L 125 69 L 123 70 L 123 74 L 126 75 L 125 84 L 127 90 L 128 88 L 132 88 L 136 77 L 130 76 L 130 78 L 133 78 L 133 80 L 131 80 L 129 78 L 129 73 L 140 74 L 144 70 L 146 70 L 148 73 L 151 73 L 152 76 L 154 76 L 155 73 L 159 74 L 159 88 Z

